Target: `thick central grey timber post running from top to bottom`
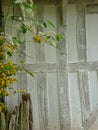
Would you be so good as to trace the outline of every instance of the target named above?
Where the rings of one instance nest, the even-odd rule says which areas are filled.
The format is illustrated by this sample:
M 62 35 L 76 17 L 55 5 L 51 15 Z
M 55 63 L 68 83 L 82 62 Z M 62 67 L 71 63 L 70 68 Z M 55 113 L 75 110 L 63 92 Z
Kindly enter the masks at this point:
M 58 60 L 58 90 L 59 90 L 59 112 L 61 130 L 71 130 L 69 89 L 68 89 L 68 60 L 66 42 L 66 18 L 67 0 L 62 0 L 57 6 L 57 31 L 63 34 L 64 38 L 57 49 Z

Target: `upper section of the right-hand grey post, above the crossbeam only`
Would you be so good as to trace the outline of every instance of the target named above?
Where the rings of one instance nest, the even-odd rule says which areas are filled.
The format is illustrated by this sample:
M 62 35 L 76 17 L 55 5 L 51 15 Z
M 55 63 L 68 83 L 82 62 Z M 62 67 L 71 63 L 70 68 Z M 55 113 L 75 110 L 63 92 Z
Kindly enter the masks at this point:
M 86 27 L 85 27 L 85 4 L 77 4 L 77 25 L 76 25 L 76 41 L 78 47 L 78 60 L 85 61 L 87 59 L 86 45 Z

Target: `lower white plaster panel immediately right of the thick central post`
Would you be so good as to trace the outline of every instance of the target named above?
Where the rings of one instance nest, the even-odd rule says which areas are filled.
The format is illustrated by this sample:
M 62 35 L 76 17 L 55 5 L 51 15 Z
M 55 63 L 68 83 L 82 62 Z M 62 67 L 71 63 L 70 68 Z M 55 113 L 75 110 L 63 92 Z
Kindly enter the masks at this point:
M 79 83 L 77 72 L 69 73 L 69 98 L 72 130 L 82 129 Z

